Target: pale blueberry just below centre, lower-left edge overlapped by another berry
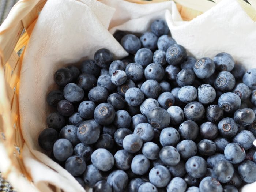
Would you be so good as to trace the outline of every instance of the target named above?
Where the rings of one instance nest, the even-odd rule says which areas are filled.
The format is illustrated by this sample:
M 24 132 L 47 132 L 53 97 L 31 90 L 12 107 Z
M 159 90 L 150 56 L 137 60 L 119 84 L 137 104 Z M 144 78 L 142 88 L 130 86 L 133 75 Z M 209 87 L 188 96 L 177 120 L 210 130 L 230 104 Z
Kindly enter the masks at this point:
M 148 142 L 154 137 L 154 128 L 149 123 L 140 123 L 135 127 L 133 134 L 139 135 L 143 142 Z

